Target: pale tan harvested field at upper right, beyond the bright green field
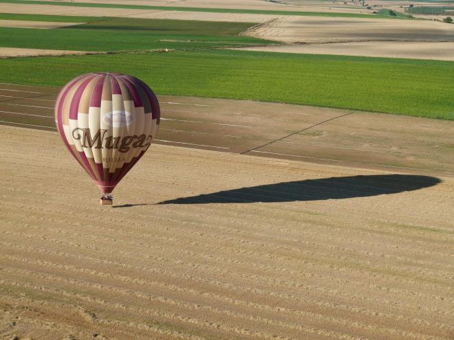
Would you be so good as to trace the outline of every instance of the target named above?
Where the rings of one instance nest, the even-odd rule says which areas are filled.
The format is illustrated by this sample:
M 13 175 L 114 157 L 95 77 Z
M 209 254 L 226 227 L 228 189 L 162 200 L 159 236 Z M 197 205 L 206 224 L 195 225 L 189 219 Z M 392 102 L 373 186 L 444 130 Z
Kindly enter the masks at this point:
M 246 34 L 296 44 L 252 47 L 255 51 L 434 60 L 454 58 L 454 25 L 439 21 L 281 16 L 252 27 Z

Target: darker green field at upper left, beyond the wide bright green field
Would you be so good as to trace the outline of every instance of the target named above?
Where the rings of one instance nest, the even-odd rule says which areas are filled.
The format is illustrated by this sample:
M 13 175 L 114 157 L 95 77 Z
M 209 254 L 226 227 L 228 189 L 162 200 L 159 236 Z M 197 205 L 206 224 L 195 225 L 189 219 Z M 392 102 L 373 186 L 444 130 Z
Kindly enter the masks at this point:
M 60 16 L 59 19 L 65 21 L 66 18 L 67 16 Z M 98 18 L 96 22 L 53 30 L 0 27 L 0 45 L 2 47 L 111 52 L 273 43 L 238 35 L 252 25 L 255 24 Z

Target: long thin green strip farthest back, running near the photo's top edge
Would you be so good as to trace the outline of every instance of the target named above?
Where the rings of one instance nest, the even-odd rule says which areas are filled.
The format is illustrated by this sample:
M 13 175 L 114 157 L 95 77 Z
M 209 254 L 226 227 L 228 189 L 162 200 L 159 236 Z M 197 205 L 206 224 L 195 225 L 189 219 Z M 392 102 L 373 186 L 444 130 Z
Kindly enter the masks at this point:
M 230 8 L 193 8 L 193 7 L 171 7 L 171 6 L 151 6 L 151 5 L 122 5 L 114 3 L 83 3 L 83 2 L 56 2 L 56 1 L 36 1 L 36 0 L 0 0 L 0 3 L 23 3 L 29 5 L 55 5 L 72 7 L 95 7 L 95 8 L 127 8 L 134 10 L 175 10 L 182 12 L 211 12 L 211 13 L 246 13 L 246 14 L 276 14 L 276 15 L 299 15 L 299 16 L 336 16 L 351 18 L 369 19 L 402 19 L 395 16 L 380 14 L 357 14 L 357 13 L 329 13 L 329 12 L 299 12 L 299 11 L 279 11 L 279 10 L 238 10 Z

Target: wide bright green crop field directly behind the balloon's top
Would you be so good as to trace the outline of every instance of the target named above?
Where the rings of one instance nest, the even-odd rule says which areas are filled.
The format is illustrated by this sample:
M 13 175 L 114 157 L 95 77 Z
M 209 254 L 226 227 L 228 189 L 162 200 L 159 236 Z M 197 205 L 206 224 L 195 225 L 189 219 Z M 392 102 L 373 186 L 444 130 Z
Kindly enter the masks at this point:
M 159 94 L 308 104 L 454 120 L 454 63 L 204 50 L 0 60 L 1 81 L 62 86 L 80 73 L 140 76 Z

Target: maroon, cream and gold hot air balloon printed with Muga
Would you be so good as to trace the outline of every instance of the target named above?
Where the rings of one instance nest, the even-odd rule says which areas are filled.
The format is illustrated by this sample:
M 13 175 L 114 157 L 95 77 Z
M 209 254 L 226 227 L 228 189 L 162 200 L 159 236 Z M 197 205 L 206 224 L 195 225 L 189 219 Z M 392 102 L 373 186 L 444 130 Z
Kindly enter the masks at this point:
M 111 192 L 151 145 L 160 123 L 158 99 L 133 76 L 88 73 L 61 89 L 55 102 L 61 138 L 112 204 Z

